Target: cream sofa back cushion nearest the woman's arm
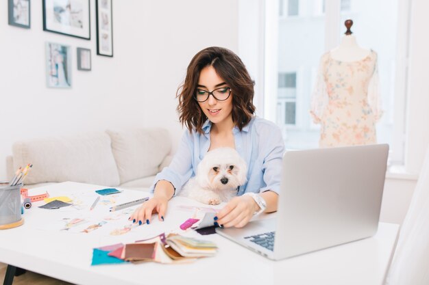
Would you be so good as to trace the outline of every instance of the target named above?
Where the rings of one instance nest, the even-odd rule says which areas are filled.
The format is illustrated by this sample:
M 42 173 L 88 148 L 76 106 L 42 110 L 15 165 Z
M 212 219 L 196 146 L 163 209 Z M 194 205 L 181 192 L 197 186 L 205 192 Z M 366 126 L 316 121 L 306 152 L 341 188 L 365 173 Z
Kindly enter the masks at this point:
M 121 184 L 158 173 L 171 149 L 171 139 L 163 128 L 134 128 L 106 131 L 112 139 Z

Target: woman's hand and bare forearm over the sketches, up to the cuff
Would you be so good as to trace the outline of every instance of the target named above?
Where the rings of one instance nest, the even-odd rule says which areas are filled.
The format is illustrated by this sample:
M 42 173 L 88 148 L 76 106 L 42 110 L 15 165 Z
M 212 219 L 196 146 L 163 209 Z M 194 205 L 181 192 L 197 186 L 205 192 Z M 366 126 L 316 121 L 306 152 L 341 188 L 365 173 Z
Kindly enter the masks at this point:
M 164 221 L 164 215 L 167 211 L 167 204 L 173 197 L 174 187 L 171 182 L 167 180 L 160 180 L 156 183 L 154 197 L 144 202 L 143 205 L 138 207 L 134 213 L 128 218 L 133 223 L 149 224 L 151 222 L 151 216 L 154 213 L 158 213 L 158 219 Z

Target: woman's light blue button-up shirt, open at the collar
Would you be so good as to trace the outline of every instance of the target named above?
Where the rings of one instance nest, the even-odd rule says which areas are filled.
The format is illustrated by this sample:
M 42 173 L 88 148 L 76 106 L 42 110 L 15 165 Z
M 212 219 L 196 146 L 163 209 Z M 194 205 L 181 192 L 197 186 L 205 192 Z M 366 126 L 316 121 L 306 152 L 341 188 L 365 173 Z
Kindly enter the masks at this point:
M 185 131 L 173 161 L 156 175 L 151 191 L 154 191 L 156 182 L 167 180 L 173 184 L 177 194 L 189 178 L 195 176 L 198 163 L 210 147 L 211 126 L 212 123 L 206 121 L 203 134 Z M 239 188 L 237 195 L 268 190 L 279 193 L 284 153 L 280 128 L 273 122 L 254 117 L 242 131 L 235 126 L 232 133 L 235 149 L 247 163 L 247 182 Z

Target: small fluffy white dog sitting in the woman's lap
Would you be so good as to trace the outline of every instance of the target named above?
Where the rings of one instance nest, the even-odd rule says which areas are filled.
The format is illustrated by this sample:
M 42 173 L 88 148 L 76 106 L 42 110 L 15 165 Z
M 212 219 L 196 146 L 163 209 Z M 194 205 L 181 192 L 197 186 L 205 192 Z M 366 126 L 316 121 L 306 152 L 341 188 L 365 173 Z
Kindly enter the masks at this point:
M 246 174 L 247 165 L 236 150 L 217 148 L 207 152 L 179 195 L 209 205 L 228 202 L 246 182 Z

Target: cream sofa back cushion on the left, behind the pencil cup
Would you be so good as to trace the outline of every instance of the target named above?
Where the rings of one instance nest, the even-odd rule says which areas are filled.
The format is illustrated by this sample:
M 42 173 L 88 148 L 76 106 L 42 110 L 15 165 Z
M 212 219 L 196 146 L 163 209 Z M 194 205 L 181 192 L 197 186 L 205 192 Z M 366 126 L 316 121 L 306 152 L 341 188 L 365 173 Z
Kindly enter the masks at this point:
M 12 146 L 14 169 L 33 164 L 25 184 L 75 181 L 117 186 L 110 144 L 110 137 L 101 132 L 18 141 Z

